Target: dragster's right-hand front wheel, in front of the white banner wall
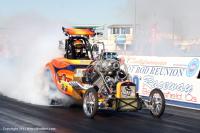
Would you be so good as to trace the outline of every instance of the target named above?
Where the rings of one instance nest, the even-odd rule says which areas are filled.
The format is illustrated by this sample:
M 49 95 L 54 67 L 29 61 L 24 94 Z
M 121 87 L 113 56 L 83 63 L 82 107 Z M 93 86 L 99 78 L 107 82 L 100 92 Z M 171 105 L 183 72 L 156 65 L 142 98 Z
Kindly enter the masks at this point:
M 150 113 L 159 118 L 165 111 L 165 97 L 160 89 L 153 89 L 149 95 L 150 98 Z

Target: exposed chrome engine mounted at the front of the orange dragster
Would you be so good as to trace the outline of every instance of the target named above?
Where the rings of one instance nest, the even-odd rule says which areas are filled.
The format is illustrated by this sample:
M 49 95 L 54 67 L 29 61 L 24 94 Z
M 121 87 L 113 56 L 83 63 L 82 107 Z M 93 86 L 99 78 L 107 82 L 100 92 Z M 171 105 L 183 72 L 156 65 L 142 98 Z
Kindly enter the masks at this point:
M 85 73 L 89 84 L 98 87 L 99 94 L 111 96 L 119 81 L 127 80 L 128 73 L 121 69 L 118 59 L 105 59 L 101 56 L 91 63 Z

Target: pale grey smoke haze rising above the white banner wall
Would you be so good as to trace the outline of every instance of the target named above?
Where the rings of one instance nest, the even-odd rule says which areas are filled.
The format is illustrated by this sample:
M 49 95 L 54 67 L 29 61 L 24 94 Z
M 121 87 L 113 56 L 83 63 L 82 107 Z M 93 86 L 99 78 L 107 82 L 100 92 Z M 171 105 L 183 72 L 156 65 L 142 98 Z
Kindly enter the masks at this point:
M 135 5 L 136 1 L 136 5 Z M 200 14 L 199 0 L 128 0 L 122 16 L 129 23 L 137 24 L 136 43 L 133 54 L 154 56 L 199 56 L 200 48 Z M 135 17 L 136 8 L 136 17 Z M 157 34 L 162 34 L 160 40 L 149 41 L 151 29 L 156 25 Z M 165 34 L 165 37 L 163 37 Z M 171 37 L 166 37 L 171 35 Z M 172 35 L 178 37 L 173 40 Z M 192 40 L 197 42 L 187 50 L 183 50 L 180 42 Z M 175 42 L 175 44 L 174 44 Z

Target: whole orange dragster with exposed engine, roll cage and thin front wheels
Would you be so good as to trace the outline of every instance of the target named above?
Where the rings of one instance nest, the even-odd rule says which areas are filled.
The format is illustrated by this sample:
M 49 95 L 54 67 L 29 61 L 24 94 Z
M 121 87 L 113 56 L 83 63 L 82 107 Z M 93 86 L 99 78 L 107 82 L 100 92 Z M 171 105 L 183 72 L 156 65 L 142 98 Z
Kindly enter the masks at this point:
M 99 53 L 97 44 L 89 38 L 94 28 L 63 28 L 65 55 L 46 64 L 49 90 L 81 101 L 84 114 L 93 118 L 98 110 L 137 111 L 146 107 L 154 117 L 165 110 L 165 98 L 159 88 L 153 88 L 148 100 L 139 97 L 136 84 L 130 81 L 127 67 L 115 52 Z M 95 55 L 95 57 L 94 57 Z M 60 99 L 50 97 L 50 104 Z

